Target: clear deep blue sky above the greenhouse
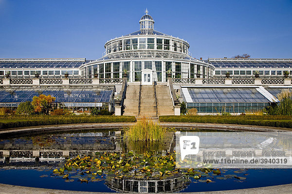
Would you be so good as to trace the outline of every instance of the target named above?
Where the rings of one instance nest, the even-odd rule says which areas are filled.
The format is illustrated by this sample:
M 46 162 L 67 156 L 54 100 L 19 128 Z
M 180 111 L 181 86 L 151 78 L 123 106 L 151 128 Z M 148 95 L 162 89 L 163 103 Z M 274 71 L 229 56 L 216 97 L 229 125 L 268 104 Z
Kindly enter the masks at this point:
M 292 58 L 292 0 L 0 0 L 0 58 L 98 59 L 146 8 L 195 58 Z

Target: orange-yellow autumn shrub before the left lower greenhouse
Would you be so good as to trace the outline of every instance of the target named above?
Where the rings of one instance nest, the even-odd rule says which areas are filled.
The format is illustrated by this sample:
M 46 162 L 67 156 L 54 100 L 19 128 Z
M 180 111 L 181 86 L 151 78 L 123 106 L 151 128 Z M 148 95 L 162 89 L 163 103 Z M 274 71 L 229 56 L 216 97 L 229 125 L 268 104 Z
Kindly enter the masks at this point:
M 32 105 L 35 108 L 35 112 L 41 114 L 49 114 L 49 111 L 52 108 L 52 103 L 55 102 L 55 97 L 51 95 L 39 95 L 39 97 L 33 97 Z

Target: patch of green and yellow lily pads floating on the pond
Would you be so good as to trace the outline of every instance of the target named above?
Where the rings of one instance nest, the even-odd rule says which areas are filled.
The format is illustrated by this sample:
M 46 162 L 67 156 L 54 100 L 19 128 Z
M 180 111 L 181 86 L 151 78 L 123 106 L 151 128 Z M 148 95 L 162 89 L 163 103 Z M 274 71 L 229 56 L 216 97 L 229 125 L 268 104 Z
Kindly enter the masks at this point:
M 235 180 L 245 180 L 245 177 L 228 175 L 224 169 L 210 168 L 210 164 L 201 163 L 201 167 L 176 168 L 176 154 L 159 154 L 145 152 L 134 154 L 132 151 L 124 152 L 96 152 L 95 155 L 85 155 L 67 159 L 64 167 L 56 168 L 52 176 L 65 179 L 65 182 L 78 179 L 80 182 L 98 182 L 101 180 L 110 181 L 114 179 L 143 179 L 143 180 L 164 180 L 169 178 L 183 178 L 189 180 L 193 178 L 198 182 L 214 182 L 217 179 L 234 178 Z M 188 161 L 185 161 L 188 162 Z M 223 173 L 223 175 L 222 175 Z M 233 173 L 246 173 L 244 169 Z M 225 175 L 224 175 L 225 174 Z M 247 176 L 248 174 L 244 174 Z

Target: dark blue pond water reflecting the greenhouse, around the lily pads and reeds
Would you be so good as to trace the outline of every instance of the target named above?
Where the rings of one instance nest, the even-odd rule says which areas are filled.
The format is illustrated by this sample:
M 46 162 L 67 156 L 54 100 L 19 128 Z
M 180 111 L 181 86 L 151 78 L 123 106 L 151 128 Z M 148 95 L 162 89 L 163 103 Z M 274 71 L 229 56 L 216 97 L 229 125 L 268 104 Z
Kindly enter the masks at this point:
M 200 129 L 201 131 L 211 131 Z M 214 131 L 214 130 L 212 130 Z M 200 179 L 183 171 L 164 178 L 114 178 L 104 171 L 95 176 L 96 169 L 76 168 L 64 174 L 53 173 L 64 167 L 68 158 L 97 153 L 120 153 L 133 150 L 137 160 L 148 150 L 157 155 L 173 153 L 173 132 L 166 134 L 159 144 L 133 144 L 123 139 L 123 131 L 108 129 L 74 130 L 66 132 L 30 134 L 0 139 L 0 183 L 19 186 L 89 191 L 89 192 L 200 192 L 244 189 L 292 183 L 288 178 L 292 169 L 221 169 L 220 175 L 212 171 Z M 143 162 L 143 161 L 141 161 Z M 94 177 L 94 178 L 93 178 Z M 80 181 L 87 179 L 88 181 Z M 207 183 L 206 180 L 212 180 Z

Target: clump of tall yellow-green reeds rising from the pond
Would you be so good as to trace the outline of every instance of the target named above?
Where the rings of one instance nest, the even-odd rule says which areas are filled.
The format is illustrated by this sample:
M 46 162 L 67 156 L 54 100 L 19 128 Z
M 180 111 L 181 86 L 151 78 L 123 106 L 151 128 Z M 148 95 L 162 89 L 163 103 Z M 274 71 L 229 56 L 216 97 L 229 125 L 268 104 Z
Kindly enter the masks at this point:
M 134 125 L 125 129 L 126 136 L 130 141 L 146 141 L 155 142 L 163 141 L 165 130 L 159 123 L 154 123 L 152 120 L 143 117 Z

